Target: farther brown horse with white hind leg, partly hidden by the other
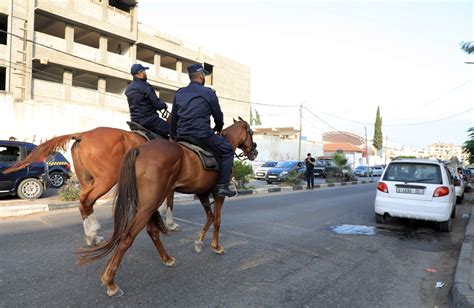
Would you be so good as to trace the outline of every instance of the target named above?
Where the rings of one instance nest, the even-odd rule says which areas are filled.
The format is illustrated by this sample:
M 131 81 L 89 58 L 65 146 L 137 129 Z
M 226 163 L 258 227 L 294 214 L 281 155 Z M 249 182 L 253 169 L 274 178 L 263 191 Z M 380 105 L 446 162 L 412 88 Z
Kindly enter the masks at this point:
M 105 195 L 118 179 L 120 162 L 128 150 L 147 140 L 133 132 L 116 128 L 98 127 L 90 131 L 63 135 L 38 145 L 25 160 L 5 170 L 5 173 L 25 168 L 29 164 L 44 160 L 55 151 L 66 151 L 70 140 L 74 169 L 81 184 L 79 211 L 81 212 L 87 245 L 98 244 L 103 237 L 97 235 L 100 224 L 94 214 L 94 203 Z M 167 225 L 177 230 L 173 222 L 173 193 L 167 198 Z

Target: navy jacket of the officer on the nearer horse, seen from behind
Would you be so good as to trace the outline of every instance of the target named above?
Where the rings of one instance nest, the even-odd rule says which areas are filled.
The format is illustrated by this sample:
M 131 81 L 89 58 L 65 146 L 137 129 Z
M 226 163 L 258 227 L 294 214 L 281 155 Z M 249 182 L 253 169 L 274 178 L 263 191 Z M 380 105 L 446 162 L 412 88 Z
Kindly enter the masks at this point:
M 211 115 L 214 129 L 211 129 Z M 176 92 L 171 111 L 170 135 L 207 138 L 220 132 L 224 126 L 224 115 L 216 92 L 192 81 Z

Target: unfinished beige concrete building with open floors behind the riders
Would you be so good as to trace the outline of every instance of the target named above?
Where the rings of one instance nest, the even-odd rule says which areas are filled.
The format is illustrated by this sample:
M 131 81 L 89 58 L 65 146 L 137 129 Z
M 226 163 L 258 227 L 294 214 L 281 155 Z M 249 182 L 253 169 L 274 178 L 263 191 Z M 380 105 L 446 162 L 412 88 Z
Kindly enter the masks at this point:
M 97 126 L 125 127 L 133 63 L 166 102 L 203 63 L 226 124 L 249 119 L 250 69 L 137 20 L 135 0 L 0 1 L 1 136 L 40 138 Z M 177 19 L 178 20 L 178 19 Z M 36 140 L 32 140 L 33 137 Z

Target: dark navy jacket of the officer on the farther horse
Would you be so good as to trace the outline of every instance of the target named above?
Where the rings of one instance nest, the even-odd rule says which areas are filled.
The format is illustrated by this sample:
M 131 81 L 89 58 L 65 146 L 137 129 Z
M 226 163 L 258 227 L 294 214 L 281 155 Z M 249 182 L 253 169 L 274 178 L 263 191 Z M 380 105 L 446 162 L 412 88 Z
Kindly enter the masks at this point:
M 133 81 L 125 90 L 130 109 L 130 118 L 141 125 L 163 121 L 157 110 L 166 109 L 168 106 L 156 96 L 153 87 L 140 78 L 133 77 Z

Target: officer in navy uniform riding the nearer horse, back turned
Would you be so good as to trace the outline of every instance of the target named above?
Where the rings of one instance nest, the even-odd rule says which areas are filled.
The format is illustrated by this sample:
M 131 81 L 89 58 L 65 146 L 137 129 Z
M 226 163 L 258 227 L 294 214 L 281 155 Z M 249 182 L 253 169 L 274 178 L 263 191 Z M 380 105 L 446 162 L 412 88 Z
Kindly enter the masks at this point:
M 224 115 L 219 106 L 216 92 L 204 87 L 205 75 L 208 74 L 201 64 L 188 66 L 191 83 L 176 92 L 171 111 L 171 138 L 180 136 L 193 137 L 203 146 L 211 149 L 220 161 L 217 181 L 217 195 L 232 197 L 235 192 L 229 189 L 229 178 L 232 172 L 234 150 L 221 135 L 216 135 L 224 127 Z M 211 128 L 211 115 L 215 126 Z

